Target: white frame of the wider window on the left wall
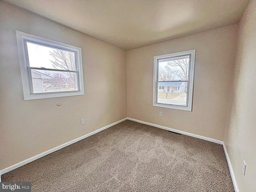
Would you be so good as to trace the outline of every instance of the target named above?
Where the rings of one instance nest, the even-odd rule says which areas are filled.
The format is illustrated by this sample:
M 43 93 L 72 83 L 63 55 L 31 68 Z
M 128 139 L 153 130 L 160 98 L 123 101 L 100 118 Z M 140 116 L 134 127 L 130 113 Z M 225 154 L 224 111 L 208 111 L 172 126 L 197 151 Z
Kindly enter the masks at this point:
M 68 45 L 65 43 L 57 42 L 54 40 L 42 38 L 32 34 L 16 31 L 18 54 L 20 60 L 20 72 L 22 77 L 22 86 L 24 93 L 24 100 L 44 99 L 44 98 L 56 98 L 66 96 L 84 95 L 84 77 L 82 67 L 82 49 L 76 46 Z M 51 48 L 58 48 L 61 50 L 67 50 L 75 52 L 76 58 L 76 73 L 77 73 L 77 87 L 78 90 L 66 91 L 66 92 L 48 92 L 48 93 L 33 93 L 31 80 L 29 77 L 30 66 L 28 63 L 28 50 L 25 46 L 26 41 L 33 42 L 40 45 L 46 45 Z M 47 70 L 47 69 L 46 69 Z

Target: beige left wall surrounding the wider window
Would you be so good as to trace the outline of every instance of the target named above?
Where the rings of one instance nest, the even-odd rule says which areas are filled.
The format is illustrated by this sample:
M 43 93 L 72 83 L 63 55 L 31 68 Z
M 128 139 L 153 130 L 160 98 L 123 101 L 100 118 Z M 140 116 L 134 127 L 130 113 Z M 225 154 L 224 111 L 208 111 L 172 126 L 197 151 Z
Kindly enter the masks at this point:
M 85 94 L 24 101 L 15 30 L 81 47 Z M 125 58 L 124 50 L 0 2 L 0 170 L 126 118 Z

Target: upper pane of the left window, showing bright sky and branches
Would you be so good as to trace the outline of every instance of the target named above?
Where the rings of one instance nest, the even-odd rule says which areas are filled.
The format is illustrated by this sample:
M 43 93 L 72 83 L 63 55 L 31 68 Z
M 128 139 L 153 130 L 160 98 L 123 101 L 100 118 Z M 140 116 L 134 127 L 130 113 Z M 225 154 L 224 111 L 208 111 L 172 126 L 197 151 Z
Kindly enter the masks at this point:
M 27 42 L 30 67 L 76 70 L 75 53 Z

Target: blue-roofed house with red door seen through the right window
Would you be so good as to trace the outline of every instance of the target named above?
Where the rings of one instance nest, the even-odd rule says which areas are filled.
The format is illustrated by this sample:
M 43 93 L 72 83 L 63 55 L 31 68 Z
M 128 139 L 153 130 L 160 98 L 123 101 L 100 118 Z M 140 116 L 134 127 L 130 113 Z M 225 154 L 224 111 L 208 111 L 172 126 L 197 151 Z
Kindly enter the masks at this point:
M 182 93 L 186 90 L 185 82 L 159 82 L 158 92 Z

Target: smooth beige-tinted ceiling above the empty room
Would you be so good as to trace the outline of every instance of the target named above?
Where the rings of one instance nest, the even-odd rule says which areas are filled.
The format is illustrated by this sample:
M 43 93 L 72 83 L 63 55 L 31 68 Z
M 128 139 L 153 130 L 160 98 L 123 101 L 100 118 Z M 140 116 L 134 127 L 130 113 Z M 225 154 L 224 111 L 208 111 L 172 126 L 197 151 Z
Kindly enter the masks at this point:
M 4 0 L 124 50 L 238 23 L 250 0 Z

